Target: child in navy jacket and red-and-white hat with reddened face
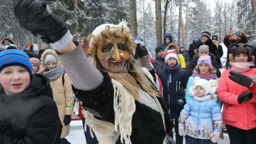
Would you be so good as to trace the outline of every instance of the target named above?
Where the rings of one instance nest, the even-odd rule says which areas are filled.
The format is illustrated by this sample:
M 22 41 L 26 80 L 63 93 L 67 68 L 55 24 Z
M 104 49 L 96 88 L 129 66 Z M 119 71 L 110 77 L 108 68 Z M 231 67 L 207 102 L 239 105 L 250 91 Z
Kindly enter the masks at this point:
M 164 69 L 158 73 L 163 85 L 164 101 L 172 119 L 175 119 L 176 144 L 183 144 L 183 136 L 179 133 L 178 118 L 185 105 L 185 88 L 188 82 L 188 72 L 179 66 L 178 54 L 174 50 L 168 50 L 165 54 Z M 173 132 L 170 133 L 173 137 Z

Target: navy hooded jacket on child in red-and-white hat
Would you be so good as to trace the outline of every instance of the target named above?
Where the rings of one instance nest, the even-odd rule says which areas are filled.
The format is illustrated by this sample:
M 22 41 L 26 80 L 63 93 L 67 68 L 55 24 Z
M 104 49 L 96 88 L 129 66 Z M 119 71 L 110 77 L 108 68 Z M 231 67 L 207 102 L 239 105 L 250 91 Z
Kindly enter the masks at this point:
M 185 88 L 188 82 L 188 72 L 182 69 L 178 62 L 175 67 L 164 64 L 164 69 L 158 73 L 163 85 L 164 101 L 171 118 L 179 118 L 183 106 L 179 109 L 173 105 L 182 99 L 185 104 Z

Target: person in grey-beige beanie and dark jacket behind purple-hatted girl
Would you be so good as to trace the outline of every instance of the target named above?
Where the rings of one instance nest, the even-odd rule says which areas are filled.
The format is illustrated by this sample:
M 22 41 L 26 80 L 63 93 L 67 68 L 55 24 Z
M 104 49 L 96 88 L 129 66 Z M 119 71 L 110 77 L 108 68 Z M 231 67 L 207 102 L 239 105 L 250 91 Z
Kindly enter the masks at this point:
M 221 72 L 218 68 L 218 64 L 216 63 L 215 56 L 212 53 L 209 53 L 209 46 L 207 46 L 207 45 L 202 45 L 199 47 L 198 53 L 194 55 L 192 61 L 188 64 L 188 67 L 187 67 L 188 74 L 190 76 L 192 76 L 193 71 L 194 71 L 195 67 L 197 66 L 197 61 L 198 61 L 199 57 L 202 55 L 210 55 L 211 56 L 212 66 L 217 69 L 216 75 L 218 76 L 218 78 L 220 78 Z

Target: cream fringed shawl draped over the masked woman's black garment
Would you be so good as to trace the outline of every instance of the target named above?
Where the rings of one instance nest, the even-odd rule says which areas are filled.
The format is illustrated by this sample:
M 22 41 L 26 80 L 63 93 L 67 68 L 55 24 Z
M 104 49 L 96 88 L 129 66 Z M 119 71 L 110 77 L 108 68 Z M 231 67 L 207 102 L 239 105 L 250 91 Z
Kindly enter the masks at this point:
M 154 82 L 153 77 L 146 68 L 142 68 L 144 73 Z M 132 95 L 123 87 L 123 85 L 111 79 L 114 88 L 114 112 L 115 112 L 115 125 L 110 122 L 102 121 L 96 119 L 91 113 L 83 110 L 82 113 L 86 117 L 85 121 L 85 131 L 86 125 L 90 128 L 90 134 L 92 137 L 92 131 L 95 133 L 99 144 L 115 144 L 116 140 L 120 135 L 121 143 L 132 144 L 131 143 L 131 131 L 132 125 L 131 120 L 133 113 L 135 112 L 135 100 Z M 162 115 L 164 122 L 164 112 L 157 98 L 153 97 L 155 100 L 159 112 Z M 164 140 L 163 144 L 166 143 Z

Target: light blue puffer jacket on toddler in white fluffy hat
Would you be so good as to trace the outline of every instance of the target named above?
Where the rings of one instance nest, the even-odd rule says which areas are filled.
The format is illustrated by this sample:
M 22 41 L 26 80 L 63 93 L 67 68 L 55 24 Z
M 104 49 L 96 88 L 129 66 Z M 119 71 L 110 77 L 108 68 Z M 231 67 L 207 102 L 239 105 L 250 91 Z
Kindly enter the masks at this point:
M 195 100 L 195 97 L 202 100 Z M 211 133 L 221 132 L 223 127 L 221 110 L 211 95 L 194 96 L 181 111 L 179 124 L 185 124 L 184 134 L 190 137 L 211 139 Z

